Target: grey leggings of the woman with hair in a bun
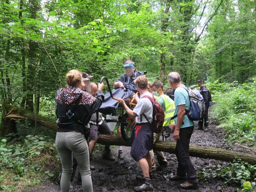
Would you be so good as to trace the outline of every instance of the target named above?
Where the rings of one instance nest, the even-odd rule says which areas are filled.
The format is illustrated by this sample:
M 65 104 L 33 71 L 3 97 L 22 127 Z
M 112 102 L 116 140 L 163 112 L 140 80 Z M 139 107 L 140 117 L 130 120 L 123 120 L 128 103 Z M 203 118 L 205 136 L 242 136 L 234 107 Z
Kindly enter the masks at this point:
M 75 131 L 57 132 L 55 143 L 62 164 L 62 175 L 60 179 L 61 192 L 69 192 L 72 174 L 72 152 L 76 157 L 81 173 L 83 191 L 93 192 L 89 150 L 84 135 Z

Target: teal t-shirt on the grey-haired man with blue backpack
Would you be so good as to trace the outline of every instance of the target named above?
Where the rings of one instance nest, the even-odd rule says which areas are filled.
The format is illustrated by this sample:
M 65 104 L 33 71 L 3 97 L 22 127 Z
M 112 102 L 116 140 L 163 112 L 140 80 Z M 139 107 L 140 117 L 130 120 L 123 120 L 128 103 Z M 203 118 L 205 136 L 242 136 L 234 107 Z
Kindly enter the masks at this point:
M 175 104 L 175 113 L 174 115 L 178 114 L 178 105 L 185 105 L 185 109 L 190 109 L 190 100 L 188 96 L 188 92 L 185 90 L 185 85 L 180 85 L 174 92 L 174 104 Z M 177 122 L 177 117 L 174 119 L 175 124 Z M 184 116 L 183 120 L 184 124 L 181 125 L 180 128 L 184 127 L 191 127 L 194 126 L 194 122 L 188 119 L 188 116 Z

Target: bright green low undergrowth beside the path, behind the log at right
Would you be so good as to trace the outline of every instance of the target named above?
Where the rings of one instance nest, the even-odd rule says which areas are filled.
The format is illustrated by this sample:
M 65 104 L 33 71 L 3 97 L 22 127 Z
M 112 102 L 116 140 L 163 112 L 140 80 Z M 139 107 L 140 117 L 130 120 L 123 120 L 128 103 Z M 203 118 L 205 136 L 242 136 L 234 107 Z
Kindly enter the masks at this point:
M 213 101 L 212 117 L 220 122 L 217 128 L 224 128 L 227 141 L 255 145 L 256 139 L 256 79 L 240 84 L 210 83 Z

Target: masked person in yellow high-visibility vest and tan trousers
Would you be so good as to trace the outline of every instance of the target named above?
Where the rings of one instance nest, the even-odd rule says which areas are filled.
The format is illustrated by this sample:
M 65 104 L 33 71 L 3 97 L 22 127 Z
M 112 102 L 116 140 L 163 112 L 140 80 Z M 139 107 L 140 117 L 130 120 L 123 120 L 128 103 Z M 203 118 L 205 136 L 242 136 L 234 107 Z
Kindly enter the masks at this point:
M 162 106 L 164 109 L 164 124 L 163 127 L 175 127 L 174 120 L 170 120 L 171 117 L 173 117 L 175 112 L 175 105 L 174 101 L 170 99 L 168 95 L 164 94 L 164 85 L 161 81 L 156 81 L 152 84 L 152 90 L 154 96 L 156 96 L 156 101 Z M 163 131 L 163 130 L 162 130 Z M 154 133 L 154 143 L 156 141 L 160 140 L 160 135 L 162 134 L 162 131 L 160 133 Z M 158 163 L 160 166 L 167 166 L 168 162 L 164 156 L 164 153 L 162 151 L 150 151 L 150 157 L 152 159 L 152 172 L 156 170 L 156 160 L 154 157 L 154 153 L 156 154 L 156 157 L 158 159 Z

